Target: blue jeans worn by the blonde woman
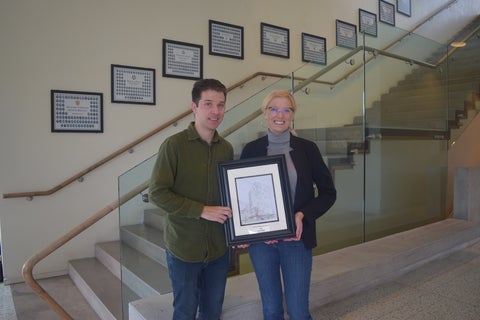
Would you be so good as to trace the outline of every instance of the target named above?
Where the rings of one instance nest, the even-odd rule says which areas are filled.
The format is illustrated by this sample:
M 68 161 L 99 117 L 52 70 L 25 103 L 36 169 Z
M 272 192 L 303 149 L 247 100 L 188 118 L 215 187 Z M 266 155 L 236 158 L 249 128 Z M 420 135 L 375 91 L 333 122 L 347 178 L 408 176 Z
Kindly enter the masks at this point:
M 279 241 L 251 244 L 248 253 L 262 297 L 263 319 L 284 319 L 281 279 L 290 319 L 312 319 L 308 309 L 312 250 L 306 249 L 302 241 Z

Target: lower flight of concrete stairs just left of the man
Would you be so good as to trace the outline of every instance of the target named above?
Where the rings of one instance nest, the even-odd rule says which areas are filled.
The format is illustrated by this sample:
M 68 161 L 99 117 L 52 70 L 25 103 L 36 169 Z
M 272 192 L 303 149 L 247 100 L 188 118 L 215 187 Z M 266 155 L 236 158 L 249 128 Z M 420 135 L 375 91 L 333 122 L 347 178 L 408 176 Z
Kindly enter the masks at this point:
M 72 281 L 101 319 L 128 319 L 122 305 L 171 291 L 160 210 L 146 210 L 143 224 L 121 227 L 120 238 L 98 243 L 93 258 L 69 263 Z

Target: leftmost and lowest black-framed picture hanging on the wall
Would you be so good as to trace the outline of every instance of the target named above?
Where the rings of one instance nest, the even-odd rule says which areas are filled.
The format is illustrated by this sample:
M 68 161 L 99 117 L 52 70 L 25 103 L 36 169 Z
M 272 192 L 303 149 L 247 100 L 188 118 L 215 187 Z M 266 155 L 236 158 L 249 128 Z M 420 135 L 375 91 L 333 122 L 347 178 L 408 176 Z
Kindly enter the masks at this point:
M 103 132 L 103 94 L 51 90 L 52 132 Z

